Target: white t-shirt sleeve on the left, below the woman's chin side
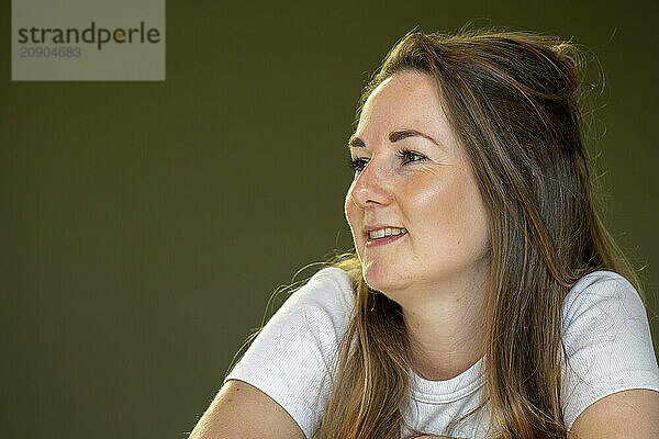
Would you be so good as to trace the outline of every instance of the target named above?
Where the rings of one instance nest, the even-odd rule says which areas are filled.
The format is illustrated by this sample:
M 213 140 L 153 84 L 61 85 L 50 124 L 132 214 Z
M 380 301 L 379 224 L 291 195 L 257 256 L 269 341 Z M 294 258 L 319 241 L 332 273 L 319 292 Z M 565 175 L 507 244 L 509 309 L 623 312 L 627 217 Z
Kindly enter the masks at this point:
M 275 313 L 224 382 L 241 380 L 259 389 L 311 438 L 353 303 L 348 274 L 320 270 Z

